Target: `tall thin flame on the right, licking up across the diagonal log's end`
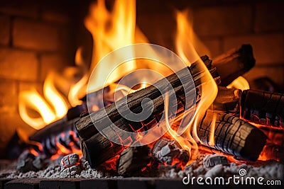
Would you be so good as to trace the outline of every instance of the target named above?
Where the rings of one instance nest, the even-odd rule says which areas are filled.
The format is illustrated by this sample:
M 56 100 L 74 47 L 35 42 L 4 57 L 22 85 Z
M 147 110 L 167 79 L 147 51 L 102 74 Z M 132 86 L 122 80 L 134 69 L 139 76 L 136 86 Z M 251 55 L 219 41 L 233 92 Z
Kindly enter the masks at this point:
M 199 50 L 200 53 L 206 53 L 207 55 L 209 55 L 209 52 L 207 48 L 202 45 L 200 40 L 198 40 L 197 36 L 192 30 L 191 23 L 187 20 L 187 17 L 187 11 L 179 11 L 177 13 L 176 18 L 178 23 L 178 32 L 176 37 L 176 49 L 178 55 L 188 66 L 190 66 L 193 62 L 200 60 L 197 64 L 199 64 L 198 66 L 200 67 L 200 69 L 204 71 L 204 75 L 201 79 L 202 96 L 195 110 L 195 115 L 193 116 L 192 121 L 187 124 L 187 129 L 185 130 L 185 133 L 182 135 L 182 137 L 178 136 L 178 134 L 174 132 L 168 125 L 168 104 L 165 104 L 165 120 L 170 135 L 180 144 L 183 149 L 187 149 L 191 153 L 192 158 L 194 159 L 196 149 L 198 149 L 197 142 L 195 141 L 201 142 L 197 135 L 197 124 L 204 116 L 206 110 L 212 105 L 214 99 L 217 96 L 218 88 L 207 67 L 201 61 L 200 56 L 197 54 L 196 50 Z M 167 103 L 166 99 L 165 103 Z M 214 131 L 214 124 L 212 124 L 211 130 Z M 214 132 L 211 133 L 212 136 L 210 136 L 210 144 L 214 144 Z M 192 149 L 195 151 L 191 151 Z

